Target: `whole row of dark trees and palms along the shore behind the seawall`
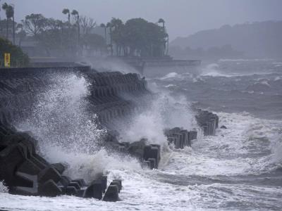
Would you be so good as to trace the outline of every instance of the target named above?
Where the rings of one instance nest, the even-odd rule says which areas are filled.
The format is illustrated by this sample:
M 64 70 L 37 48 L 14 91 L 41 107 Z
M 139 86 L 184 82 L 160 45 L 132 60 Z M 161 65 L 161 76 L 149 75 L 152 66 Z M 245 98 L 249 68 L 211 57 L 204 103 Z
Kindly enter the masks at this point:
M 6 11 L 6 19 L 0 20 L 0 37 L 13 41 L 30 56 L 159 57 L 166 54 L 168 34 L 162 19 L 158 23 L 149 23 L 142 18 L 133 18 L 123 23 L 112 18 L 109 23 L 97 26 L 93 18 L 64 8 L 62 13 L 66 20 L 32 13 L 16 23 L 13 6 L 4 3 L 2 8 Z M 97 29 L 104 33 L 97 33 Z

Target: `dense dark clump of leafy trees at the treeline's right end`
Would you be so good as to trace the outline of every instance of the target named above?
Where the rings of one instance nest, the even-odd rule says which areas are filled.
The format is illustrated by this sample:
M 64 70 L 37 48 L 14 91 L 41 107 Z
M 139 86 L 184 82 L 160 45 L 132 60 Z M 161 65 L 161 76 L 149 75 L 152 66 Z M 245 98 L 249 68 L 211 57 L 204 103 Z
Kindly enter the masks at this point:
M 112 18 L 104 27 L 109 27 L 112 41 L 116 44 L 116 56 L 164 56 L 168 34 L 164 27 L 164 20 L 160 19 L 159 26 L 149 23 L 142 18 L 133 18 L 126 23 Z M 106 34 L 105 34 L 106 35 Z M 114 54 L 111 41 L 111 55 Z

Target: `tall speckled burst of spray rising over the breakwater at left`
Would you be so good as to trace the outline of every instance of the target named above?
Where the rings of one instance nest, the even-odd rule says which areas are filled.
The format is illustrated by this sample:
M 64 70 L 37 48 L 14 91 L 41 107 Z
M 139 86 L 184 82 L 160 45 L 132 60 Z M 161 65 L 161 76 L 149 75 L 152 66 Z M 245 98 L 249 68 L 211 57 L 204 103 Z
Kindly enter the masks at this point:
M 19 127 L 35 135 L 42 152 L 53 146 L 78 153 L 94 151 L 105 131 L 98 129 L 96 115 L 87 111 L 89 84 L 73 73 L 49 77 L 49 87 L 38 94 L 32 114 Z

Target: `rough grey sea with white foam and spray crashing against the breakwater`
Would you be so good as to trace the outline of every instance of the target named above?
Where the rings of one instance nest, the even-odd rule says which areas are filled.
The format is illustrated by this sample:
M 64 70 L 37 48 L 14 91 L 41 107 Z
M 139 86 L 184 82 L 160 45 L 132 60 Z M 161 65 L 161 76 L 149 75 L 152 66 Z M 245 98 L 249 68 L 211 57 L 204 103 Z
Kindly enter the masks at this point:
M 44 158 L 66 163 L 70 177 L 91 181 L 104 171 L 109 180 L 122 179 L 121 200 L 16 196 L 0 183 L 0 210 L 282 210 L 281 61 L 218 60 L 197 72 L 147 78 L 156 99 L 120 133 L 126 141 L 146 137 L 161 144 L 158 170 L 103 148 L 87 153 L 104 133 L 85 109 L 87 81 L 76 75 L 54 80 L 17 127 L 37 137 Z M 203 136 L 194 107 L 219 115 L 226 129 Z M 195 128 L 198 137 L 191 148 L 175 149 L 166 127 Z M 62 140 L 68 144 L 53 144 Z

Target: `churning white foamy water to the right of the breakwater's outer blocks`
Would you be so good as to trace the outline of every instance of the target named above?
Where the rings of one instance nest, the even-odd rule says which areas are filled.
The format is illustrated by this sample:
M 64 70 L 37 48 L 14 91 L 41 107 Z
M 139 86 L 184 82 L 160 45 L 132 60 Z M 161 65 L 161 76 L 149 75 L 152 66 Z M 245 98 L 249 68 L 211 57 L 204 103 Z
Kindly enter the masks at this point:
M 216 136 L 203 136 L 192 143 L 192 150 L 173 153 L 164 167 L 168 172 L 185 175 L 247 175 L 276 170 L 279 156 L 276 129 L 282 122 L 261 120 L 248 113 L 219 113 L 220 125 Z M 280 125 L 280 126 L 279 126 Z

